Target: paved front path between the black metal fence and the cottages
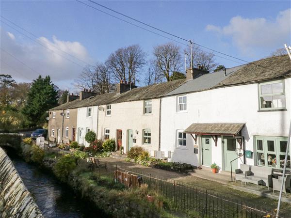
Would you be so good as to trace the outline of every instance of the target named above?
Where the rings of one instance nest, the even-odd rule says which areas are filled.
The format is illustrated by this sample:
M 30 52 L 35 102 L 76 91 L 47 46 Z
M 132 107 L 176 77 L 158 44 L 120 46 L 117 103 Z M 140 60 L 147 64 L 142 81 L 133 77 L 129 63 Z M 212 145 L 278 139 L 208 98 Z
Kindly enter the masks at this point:
M 222 193 L 222 195 L 229 196 L 230 198 L 233 197 L 234 199 L 238 199 L 242 202 L 248 202 L 248 204 L 252 203 L 253 205 L 257 205 L 257 208 L 260 208 L 260 206 L 262 206 L 263 208 L 266 208 L 268 210 L 273 210 L 277 207 L 276 200 L 233 189 L 231 188 L 231 186 L 227 184 L 215 182 L 216 181 L 215 178 L 211 180 L 203 179 L 200 177 L 196 177 L 195 173 L 192 173 L 192 175 L 187 175 L 183 173 L 165 171 L 161 169 L 146 167 L 146 166 L 135 164 L 135 163 L 129 163 L 124 160 L 114 159 L 111 157 L 100 158 L 99 160 L 101 162 L 110 162 L 113 164 L 117 164 L 121 168 L 126 168 L 127 170 L 132 170 L 141 174 L 146 174 L 146 175 L 151 174 L 153 177 L 158 177 L 161 179 L 170 179 L 170 180 L 173 179 L 176 181 L 194 185 L 196 187 L 211 189 L 216 192 Z M 203 173 L 207 174 L 208 173 L 207 170 L 205 169 L 201 170 L 197 174 L 200 174 L 200 175 Z M 218 174 L 215 174 L 215 175 L 219 176 Z M 284 212 L 288 212 L 291 214 L 291 206 L 289 203 L 283 202 L 281 208 Z

